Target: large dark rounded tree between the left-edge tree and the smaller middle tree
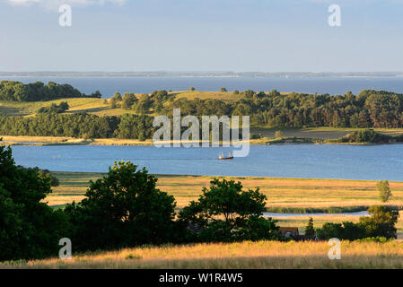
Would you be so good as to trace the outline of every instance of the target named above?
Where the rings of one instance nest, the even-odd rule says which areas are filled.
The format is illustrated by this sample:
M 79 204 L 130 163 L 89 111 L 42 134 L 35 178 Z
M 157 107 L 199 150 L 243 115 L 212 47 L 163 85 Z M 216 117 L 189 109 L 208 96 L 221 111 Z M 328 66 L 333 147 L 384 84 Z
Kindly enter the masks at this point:
M 69 204 L 71 239 L 79 250 L 161 244 L 174 237 L 175 201 L 156 187 L 157 178 L 130 161 L 115 162 L 90 182 L 80 204 Z

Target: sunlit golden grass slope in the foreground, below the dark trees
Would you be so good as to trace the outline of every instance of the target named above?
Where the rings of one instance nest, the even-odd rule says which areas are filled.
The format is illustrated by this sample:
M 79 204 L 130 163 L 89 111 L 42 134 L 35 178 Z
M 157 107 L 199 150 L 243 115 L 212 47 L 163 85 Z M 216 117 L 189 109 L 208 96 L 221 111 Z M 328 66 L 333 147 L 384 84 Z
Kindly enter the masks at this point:
M 1 268 L 403 268 L 403 241 L 341 242 L 341 259 L 330 260 L 328 242 L 244 241 L 127 248 L 0 264 Z

